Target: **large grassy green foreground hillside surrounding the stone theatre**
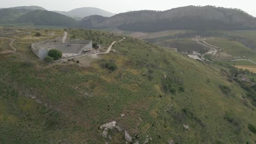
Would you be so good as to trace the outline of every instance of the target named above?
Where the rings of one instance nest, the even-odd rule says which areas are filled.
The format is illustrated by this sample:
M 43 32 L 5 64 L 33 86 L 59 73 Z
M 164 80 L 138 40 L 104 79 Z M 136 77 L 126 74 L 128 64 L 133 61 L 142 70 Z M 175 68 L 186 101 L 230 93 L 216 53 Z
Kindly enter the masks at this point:
M 99 44 L 121 39 L 98 31 L 68 33 Z M 139 135 L 139 143 L 147 135 L 150 143 L 256 140 L 248 128 L 256 125 L 254 107 L 245 104 L 245 91 L 218 65 L 130 37 L 90 67 L 45 65 L 32 60 L 32 41 L 37 41 L 32 35 L 19 38 L 20 53 L 0 57 L 1 143 L 125 143 L 123 133 L 113 132 L 112 140 L 100 135 L 98 127 L 113 120 Z M 104 68 L 107 62 L 118 68 Z

